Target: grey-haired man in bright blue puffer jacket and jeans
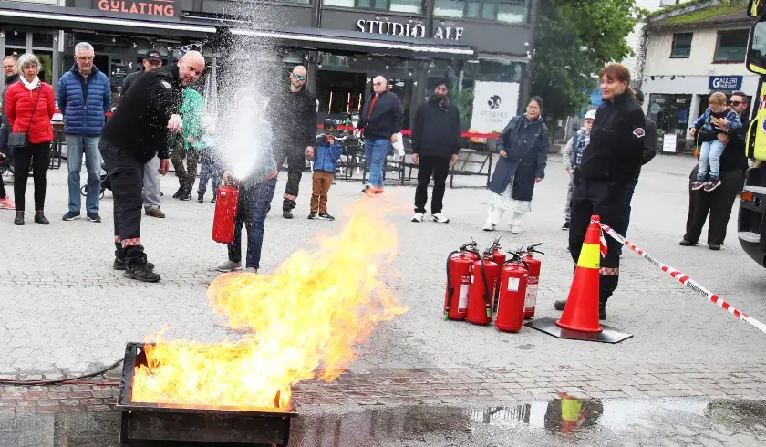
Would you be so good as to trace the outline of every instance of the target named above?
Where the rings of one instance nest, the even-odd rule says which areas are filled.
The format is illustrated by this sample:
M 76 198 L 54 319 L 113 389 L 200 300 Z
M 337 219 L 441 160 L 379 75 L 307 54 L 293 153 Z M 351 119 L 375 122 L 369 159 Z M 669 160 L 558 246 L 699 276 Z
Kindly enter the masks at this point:
M 75 66 L 58 80 L 58 109 L 64 115 L 69 165 L 69 211 L 65 221 L 80 215 L 80 172 L 82 153 L 88 169 L 88 195 L 85 211 L 91 222 L 101 222 L 98 215 L 101 194 L 101 156 L 98 140 L 106 112 L 111 109 L 109 78 L 93 65 L 93 47 L 88 42 L 75 46 Z

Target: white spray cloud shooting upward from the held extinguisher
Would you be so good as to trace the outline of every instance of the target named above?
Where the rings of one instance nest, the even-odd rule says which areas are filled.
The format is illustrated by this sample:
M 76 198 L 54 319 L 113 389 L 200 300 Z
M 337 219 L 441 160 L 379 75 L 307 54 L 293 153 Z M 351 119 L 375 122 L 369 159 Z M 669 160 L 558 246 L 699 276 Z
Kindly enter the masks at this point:
M 274 10 L 263 1 L 233 2 L 226 13 L 242 19 L 232 28 L 274 29 Z M 205 115 L 208 130 L 214 130 L 215 155 L 239 179 L 267 162 L 264 155 L 271 152 L 264 145 L 273 144 L 270 128 L 280 115 L 271 98 L 287 82 L 280 53 L 264 38 L 224 36 L 207 79 Z

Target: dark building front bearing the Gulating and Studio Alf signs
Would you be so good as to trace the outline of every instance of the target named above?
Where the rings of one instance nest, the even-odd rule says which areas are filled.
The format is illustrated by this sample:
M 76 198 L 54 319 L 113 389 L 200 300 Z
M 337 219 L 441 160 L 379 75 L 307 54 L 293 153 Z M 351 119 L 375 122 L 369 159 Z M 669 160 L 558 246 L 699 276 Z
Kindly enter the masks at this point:
M 88 41 L 119 99 L 122 78 L 150 48 L 166 63 L 189 48 L 212 56 L 209 43 L 225 28 L 279 47 L 285 68 L 306 65 L 323 114 L 358 110 L 370 79 L 384 75 L 408 127 L 430 88 L 449 76 L 463 130 L 489 132 L 502 130 L 529 95 L 536 9 L 537 0 L 0 2 L 0 50 L 35 52 L 41 78 L 55 84 L 73 65 L 75 44 Z M 488 91 L 502 96 L 499 109 L 483 98 Z

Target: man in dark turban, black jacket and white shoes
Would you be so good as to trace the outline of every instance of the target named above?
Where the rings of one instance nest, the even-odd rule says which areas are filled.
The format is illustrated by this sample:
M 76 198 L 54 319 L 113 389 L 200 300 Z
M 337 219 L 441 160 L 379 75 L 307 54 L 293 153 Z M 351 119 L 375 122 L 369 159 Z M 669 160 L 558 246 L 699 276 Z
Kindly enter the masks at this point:
M 415 190 L 415 216 L 412 222 L 423 222 L 426 202 L 429 200 L 429 183 L 433 174 L 430 220 L 447 224 L 441 213 L 447 174 L 458 161 L 461 150 L 461 117 L 458 109 L 447 98 L 449 81 L 442 81 L 433 90 L 429 101 L 422 104 L 415 114 L 412 128 L 412 162 L 418 165 L 418 188 Z

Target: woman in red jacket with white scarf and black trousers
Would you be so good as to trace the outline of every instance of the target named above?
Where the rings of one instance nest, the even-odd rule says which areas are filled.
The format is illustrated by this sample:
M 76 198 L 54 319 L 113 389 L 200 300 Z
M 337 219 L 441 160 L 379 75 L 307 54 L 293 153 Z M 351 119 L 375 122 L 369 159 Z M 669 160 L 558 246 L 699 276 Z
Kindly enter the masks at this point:
M 53 88 L 37 78 L 40 61 L 32 53 L 18 58 L 21 72 L 19 82 L 5 91 L 5 114 L 13 126 L 12 132 L 26 133 L 29 143 L 14 151 L 14 192 L 16 194 L 16 219 L 14 224 L 24 224 L 26 179 L 29 165 L 35 180 L 35 222 L 49 224 L 43 213 L 46 202 L 46 171 L 50 157 L 50 142 L 53 141 L 53 126 L 50 120 L 56 111 Z

